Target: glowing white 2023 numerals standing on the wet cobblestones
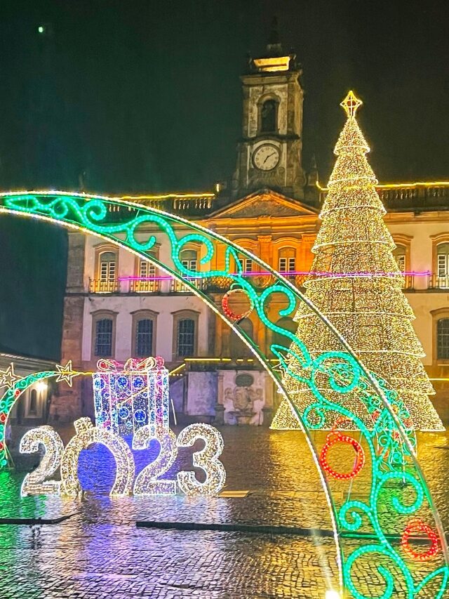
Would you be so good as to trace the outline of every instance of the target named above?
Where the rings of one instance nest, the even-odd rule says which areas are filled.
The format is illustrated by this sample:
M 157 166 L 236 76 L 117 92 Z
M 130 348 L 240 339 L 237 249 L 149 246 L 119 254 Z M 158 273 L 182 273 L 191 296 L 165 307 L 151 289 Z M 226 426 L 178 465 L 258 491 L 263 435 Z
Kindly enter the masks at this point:
M 156 459 L 145 466 L 136 478 L 133 454 L 125 440 L 110 430 L 93 426 L 88 418 L 76 420 L 74 426 L 76 434 L 65 448 L 60 436 L 51 426 L 33 428 L 22 437 L 21 453 L 37 452 L 39 445 L 45 450 L 36 470 L 25 476 L 22 496 L 79 494 L 79 454 L 94 443 L 105 445 L 116 462 L 116 477 L 111 495 L 172 495 L 176 493 L 177 486 L 187 495 L 215 495 L 225 485 L 226 470 L 219 460 L 223 451 L 223 437 L 216 428 L 208 424 L 191 424 L 183 429 L 177 438 L 169 428 L 160 427 L 156 431 L 152 431 L 149 426 L 140 428 L 133 437 L 133 449 L 147 449 L 152 440 L 156 440 L 159 442 L 160 451 Z M 204 447 L 194 452 L 193 465 L 204 471 L 206 480 L 200 482 L 193 471 L 184 470 L 177 473 L 177 480 L 161 478 L 173 466 L 177 449 L 192 447 L 197 440 L 202 440 Z M 61 480 L 51 480 L 58 468 Z

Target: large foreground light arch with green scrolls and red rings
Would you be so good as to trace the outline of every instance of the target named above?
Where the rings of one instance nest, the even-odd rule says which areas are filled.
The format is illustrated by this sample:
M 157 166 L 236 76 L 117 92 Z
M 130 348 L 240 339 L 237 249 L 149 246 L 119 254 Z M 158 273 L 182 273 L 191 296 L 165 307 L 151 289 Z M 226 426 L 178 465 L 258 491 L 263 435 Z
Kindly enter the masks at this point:
M 215 232 L 134 202 L 69 192 L 17 192 L 0 195 L 0 211 L 41 218 L 98 235 L 138 256 L 148 258 L 187 285 L 250 347 L 288 400 L 292 414 L 300 423 L 330 508 L 340 568 L 340 587 L 346 593 L 344 596 L 356 599 L 389 599 L 396 596 L 413 599 L 424 596 L 422 593 L 425 592 L 426 597 L 443 598 L 449 579 L 448 547 L 417 462 L 413 432 L 403 428 L 396 415 L 398 413 L 400 416 L 401 410 L 397 394 L 363 367 L 347 341 L 287 279 L 247 250 Z M 150 254 L 156 239 L 170 246 L 170 260 L 166 263 L 161 263 Z M 180 261 L 180 253 L 189 242 L 201 247 L 200 272 L 185 268 Z M 224 269 L 213 266 L 217 255 L 225 256 Z M 241 272 L 238 255 L 247 256 L 263 272 L 269 272 L 263 289 L 256 287 L 252 277 L 245 277 Z M 315 403 L 308 408 L 309 411 L 313 409 L 315 415 L 324 414 L 327 410 L 338 412 L 344 421 L 351 421 L 354 428 L 360 430 L 360 441 L 335 432 L 330 433 L 327 440 L 313 442 L 309 412 L 306 409 L 300 413 L 288 397 L 281 381 L 279 365 L 275 365 L 262 353 L 261 348 L 250 342 L 229 313 L 217 307 L 213 299 L 217 286 L 222 291 L 243 290 L 261 325 L 271 331 L 271 335 L 276 334 L 276 339 L 284 340 L 283 343 L 273 343 L 270 350 L 279 358 L 282 371 L 306 383 L 313 393 Z M 273 294 L 283 298 L 283 308 L 274 322 L 267 316 L 267 305 Z M 276 324 L 282 324 L 282 318 L 293 317 L 301 302 L 307 303 L 332 331 L 339 340 L 340 351 L 311 357 L 302 340 Z M 4 442 L 4 421 L 11 411 L 15 395 L 20 395 L 15 392 L 22 381 L 15 383 L 0 400 L 1 443 Z M 335 391 L 340 393 L 341 402 L 333 403 L 326 397 L 326 390 L 332 390 L 333 395 Z M 351 412 L 349 404 L 345 405 L 344 399 L 348 393 L 356 393 L 358 400 L 365 404 L 367 414 L 371 416 L 370 428 Z M 361 475 L 336 478 L 326 463 L 326 454 L 337 443 L 356 449 L 358 461 L 353 473 L 358 469 Z M 417 519 L 422 522 L 424 531 L 425 527 L 435 529 L 439 539 L 438 551 L 435 555 L 424 555 L 429 557 L 425 561 L 419 555 L 426 553 L 425 547 L 424 550 L 411 550 L 406 538 L 410 530 L 415 531 Z M 404 534 L 401 546 L 398 541 Z M 382 581 L 381 589 L 370 585 L 373 573 Z

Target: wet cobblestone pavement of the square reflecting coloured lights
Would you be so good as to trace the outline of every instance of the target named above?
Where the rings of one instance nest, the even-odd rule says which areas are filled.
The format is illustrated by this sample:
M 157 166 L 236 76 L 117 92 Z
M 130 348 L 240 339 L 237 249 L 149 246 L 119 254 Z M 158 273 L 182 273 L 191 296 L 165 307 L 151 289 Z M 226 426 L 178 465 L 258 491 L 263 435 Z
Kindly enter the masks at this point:
M 337 585 L 333 539 L 135 527 L 136 520 L 173 520 L 330 529 L 319 477 L 300 433 L 246 427 L 225 427 L 222 433 L 227 489 L 249 490 L 244 499 L 111 499 L 105 492 L 114 468 L 102 447 L 81 456 L 87 489 L 81 500 L 20 499 L 23 471 L 2 473 L 0 518 L 75 515 L 58 525 L 0 526 L 0 599 L 324 599 L 326 588 Z M 420 459 L 448 529 L 449 451 L 438 446 L 449 447 L 448 435 L 422 435 Z M 149 453 L 139 452 L 138 470 Z M 87 457 L 93 468 L 87 468 Z M 192 469 L 191 459 L 191 452 L 181 452 L 170 473 Z M 18 470 L 33 463 L 34 457 L 25 456 Z M 380 584 L 374 565 L 360 577 Z M 394 597 L 406 595 L 398 591 Z

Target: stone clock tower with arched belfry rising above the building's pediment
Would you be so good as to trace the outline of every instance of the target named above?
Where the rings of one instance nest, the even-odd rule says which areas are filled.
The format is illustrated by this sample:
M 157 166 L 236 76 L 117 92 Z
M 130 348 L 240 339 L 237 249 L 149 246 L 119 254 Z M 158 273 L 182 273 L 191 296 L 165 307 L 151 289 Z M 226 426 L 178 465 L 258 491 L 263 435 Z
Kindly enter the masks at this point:
M 250 58 L 243 88 L 242 136 L 237 147 L 233 195 L 269 187 L 304 198 L 302 170 L 302 70 L 283 52 L 276 19 L 262 58 Z

